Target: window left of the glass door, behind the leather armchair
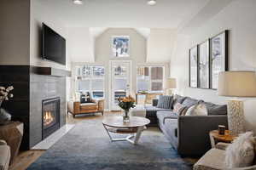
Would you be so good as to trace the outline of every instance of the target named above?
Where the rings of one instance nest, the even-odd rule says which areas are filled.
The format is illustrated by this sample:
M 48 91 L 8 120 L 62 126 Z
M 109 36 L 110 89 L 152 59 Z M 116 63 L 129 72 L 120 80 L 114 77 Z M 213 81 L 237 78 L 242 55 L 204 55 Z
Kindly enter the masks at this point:
M 77 92 L 90 92 L 94 99 L 104 98 L 104 75 L 102 65 L 82 65 L 76 67 Z

